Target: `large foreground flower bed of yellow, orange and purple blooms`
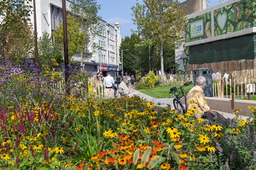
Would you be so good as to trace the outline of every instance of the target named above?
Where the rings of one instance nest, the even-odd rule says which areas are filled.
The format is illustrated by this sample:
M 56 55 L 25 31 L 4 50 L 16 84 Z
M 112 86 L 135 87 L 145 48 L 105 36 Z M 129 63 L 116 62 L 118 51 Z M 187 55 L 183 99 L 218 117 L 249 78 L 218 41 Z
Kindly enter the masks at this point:
M 1 169 L 255 168 L 255 119 L 236 116 L 222 125 L 195 119 L 194 109 L 180 115 L 138 96 L 41 93 L 28 71 L 22 81 L 39 98 L 22 93 L 22 82 L 14 86 L 20 77 L 1 69 L 2 85 L 10 84 L 0 88 Z

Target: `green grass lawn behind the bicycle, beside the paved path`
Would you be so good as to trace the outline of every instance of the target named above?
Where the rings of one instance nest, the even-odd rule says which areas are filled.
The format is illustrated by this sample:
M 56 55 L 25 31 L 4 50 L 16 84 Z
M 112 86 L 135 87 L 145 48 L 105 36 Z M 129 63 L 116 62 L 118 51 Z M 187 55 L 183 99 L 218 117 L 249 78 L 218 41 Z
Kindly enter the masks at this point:
M 181 85 L 176 85 L 176 87 L 180 86 Z M 193 84 L 190 84 L 189 86 L 185 87 L 185 91 L 188 92 L 193 86 Z M 140 92 L 145 93 L 153 98 L 173 98 L 173 94 L 169 94 L 171 87 L 174 87 L 174 85 L 140 90 Z

